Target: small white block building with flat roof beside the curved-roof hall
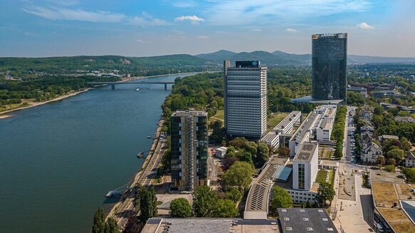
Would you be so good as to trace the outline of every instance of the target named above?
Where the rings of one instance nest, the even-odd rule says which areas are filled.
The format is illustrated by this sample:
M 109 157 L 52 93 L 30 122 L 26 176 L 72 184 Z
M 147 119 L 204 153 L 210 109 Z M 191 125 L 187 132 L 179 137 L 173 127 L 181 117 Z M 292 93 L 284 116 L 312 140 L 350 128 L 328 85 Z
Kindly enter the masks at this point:
M 317 143 L 302 143 L 292 164 L 292 188 L 294 190 L 312 190 L 319 170 L 318 152 Z

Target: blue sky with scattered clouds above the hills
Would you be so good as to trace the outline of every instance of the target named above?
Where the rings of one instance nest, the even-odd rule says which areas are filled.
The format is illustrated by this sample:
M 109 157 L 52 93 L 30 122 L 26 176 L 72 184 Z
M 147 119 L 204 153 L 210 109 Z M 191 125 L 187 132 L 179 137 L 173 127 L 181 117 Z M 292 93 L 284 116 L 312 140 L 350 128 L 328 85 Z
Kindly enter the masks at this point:
M 413 0 L 0 0 L 0 56 L 229 51 L 311 53 L 347 32 L 348 53 L 415 57 Z

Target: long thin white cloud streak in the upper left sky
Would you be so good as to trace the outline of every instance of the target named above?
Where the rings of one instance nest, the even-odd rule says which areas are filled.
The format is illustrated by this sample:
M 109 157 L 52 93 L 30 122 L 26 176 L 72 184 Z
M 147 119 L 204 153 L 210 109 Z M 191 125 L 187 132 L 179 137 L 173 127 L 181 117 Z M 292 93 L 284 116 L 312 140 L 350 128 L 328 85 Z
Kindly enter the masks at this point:
M 35 16 L 51 20 L 74 20 L 101 23 L 117 23 L 125 19 L 123 14 L 111 13 L 108 11 L 83 11 L 81 9 L 68 9 L 61 7 L 31 6 L 23 11 Z

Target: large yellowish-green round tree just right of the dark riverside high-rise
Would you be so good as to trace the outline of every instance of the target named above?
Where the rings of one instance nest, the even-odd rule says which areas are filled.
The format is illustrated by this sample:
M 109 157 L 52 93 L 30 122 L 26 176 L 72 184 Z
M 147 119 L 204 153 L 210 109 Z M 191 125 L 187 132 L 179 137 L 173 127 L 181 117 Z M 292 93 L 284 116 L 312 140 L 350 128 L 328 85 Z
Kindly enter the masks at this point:
M 236 161 L 222 175 L 222 182 L 225 188 L 238 187 L 239 190 L 245 190 L 252 182 L 252 175 L 254 175 L 252 165 L 247 162 Z

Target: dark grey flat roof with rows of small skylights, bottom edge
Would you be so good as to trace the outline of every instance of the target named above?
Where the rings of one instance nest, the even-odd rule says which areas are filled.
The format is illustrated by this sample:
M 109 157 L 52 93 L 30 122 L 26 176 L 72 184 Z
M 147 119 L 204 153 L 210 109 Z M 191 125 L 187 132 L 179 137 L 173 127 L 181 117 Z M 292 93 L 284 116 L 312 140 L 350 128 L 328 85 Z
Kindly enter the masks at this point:
M 323 208 L 278 208 L 282 232 L 338 232 Z

